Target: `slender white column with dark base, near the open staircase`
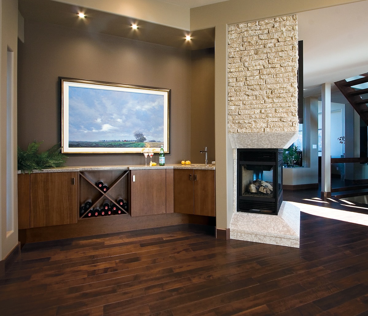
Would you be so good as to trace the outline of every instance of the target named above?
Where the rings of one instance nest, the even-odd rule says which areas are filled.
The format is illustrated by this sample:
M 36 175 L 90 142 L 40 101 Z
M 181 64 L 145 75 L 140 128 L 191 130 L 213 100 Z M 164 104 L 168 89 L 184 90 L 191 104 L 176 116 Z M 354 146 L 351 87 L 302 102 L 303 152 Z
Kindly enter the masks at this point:
M 331 197 L 331 84 L 322 84 L 321 196 Z

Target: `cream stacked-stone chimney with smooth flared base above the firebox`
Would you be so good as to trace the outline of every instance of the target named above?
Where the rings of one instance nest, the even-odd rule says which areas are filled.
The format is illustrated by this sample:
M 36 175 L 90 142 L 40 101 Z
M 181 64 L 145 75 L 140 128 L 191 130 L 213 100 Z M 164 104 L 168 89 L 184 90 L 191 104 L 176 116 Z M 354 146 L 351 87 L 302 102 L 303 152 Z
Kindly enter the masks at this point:
M 297 15 L 229 25 L 233 148 L 285 148 L 298 136 Z

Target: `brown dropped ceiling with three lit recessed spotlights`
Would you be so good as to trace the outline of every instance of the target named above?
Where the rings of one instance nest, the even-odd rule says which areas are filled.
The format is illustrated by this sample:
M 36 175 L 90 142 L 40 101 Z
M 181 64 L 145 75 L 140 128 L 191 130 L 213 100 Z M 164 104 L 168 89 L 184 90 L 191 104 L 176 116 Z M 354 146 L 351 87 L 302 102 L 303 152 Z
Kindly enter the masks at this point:
M 165 2 L 180 1 L 167 0 Z M 219 2 L 219 0 L 190 0 L 188 4 L 186 1 L 182 2 L 194 6 L 195 3 Z M 77 17 L 78 8 L 75 6 L 50 0 L 19 0 L 18 10 L 25 20 L 46 22 L 85 32 L 119 36 L 189 50 L 215 47 L 214 28 L 188 32 L 140 20 L 139 29 L 132 30 L 131 24 L 137 21 L 130 17 L 88 9 L 87 17 L 82 20 Z M 191 41 L 185 41 L 185 36 L 188 34 L 192 38 Z

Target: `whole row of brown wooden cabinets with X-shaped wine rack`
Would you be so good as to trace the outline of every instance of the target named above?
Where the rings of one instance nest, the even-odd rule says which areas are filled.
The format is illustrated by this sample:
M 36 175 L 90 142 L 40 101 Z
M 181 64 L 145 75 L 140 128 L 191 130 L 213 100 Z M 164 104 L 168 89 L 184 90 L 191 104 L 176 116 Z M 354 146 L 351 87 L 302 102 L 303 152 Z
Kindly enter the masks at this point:
M 96 186 L 99 179 L 109 185 L 107 192 Z M 146 168 L 20 174 L 18 228 L 74 224 L 106 199 L 117 204 L 120 196 L 127 204 L 121 214 L 131 217 L 174 210 L 215 216 L 215 171 Z M 81 213 L 88 199 L 92 205 Z

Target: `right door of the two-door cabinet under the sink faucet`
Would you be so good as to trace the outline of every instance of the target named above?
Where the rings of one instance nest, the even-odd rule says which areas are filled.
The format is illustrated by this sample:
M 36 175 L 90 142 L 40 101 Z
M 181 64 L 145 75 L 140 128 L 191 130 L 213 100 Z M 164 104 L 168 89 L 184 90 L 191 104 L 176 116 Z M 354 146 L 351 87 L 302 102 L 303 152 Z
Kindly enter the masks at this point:
M 194 170 L 194 214 L 215 216 L 215 170 Z

